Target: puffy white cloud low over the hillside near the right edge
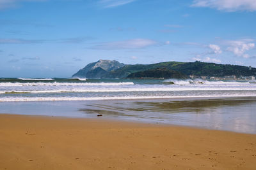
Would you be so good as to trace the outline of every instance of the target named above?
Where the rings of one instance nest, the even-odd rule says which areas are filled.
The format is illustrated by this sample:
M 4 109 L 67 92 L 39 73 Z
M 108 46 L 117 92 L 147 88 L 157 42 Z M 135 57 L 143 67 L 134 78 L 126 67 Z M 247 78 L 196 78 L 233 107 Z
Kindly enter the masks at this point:
M 234 53 L 234 55 L 244 58 L 249 58 L 250 55 L 245 53 L 248 50 L 251 50 L 255 47 L 255 43 L 250 42 L 252 39 L 241 39 L 236 41 L 227 41 L 228 48 L 227 50 Z

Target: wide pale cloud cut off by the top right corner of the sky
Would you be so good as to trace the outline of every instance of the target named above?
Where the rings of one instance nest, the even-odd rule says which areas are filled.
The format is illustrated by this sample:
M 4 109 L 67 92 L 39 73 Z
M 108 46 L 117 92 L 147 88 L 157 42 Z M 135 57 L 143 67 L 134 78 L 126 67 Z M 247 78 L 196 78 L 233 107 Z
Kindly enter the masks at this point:
M 223 11 L 256 11 L 255 0 L 194 0 L 192 6 Z

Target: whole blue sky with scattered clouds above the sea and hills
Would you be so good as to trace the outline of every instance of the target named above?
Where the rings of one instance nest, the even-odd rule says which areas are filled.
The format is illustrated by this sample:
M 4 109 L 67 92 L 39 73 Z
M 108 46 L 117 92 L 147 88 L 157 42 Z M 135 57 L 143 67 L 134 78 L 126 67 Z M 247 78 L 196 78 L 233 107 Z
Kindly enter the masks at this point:
M 0 0 L 0 77 L 68 78 L 99 59 L 256 67 L 256 1 Z

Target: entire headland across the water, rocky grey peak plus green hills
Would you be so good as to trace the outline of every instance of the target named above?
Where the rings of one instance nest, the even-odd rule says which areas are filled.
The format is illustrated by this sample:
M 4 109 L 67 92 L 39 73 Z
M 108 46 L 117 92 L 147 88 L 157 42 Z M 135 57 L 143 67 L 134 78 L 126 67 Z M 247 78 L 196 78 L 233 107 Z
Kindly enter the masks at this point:
M 101 69 L 96 69 L 96 68 Z M 163 70 L 161 70 L 163 69 Z M 146 71 L 146 72 L 145 72 Z M 156 73 L 167 76 L 166 73 L 177 71 L 180 74 L 189 76 L 256 76 L 256 68 L 237 66 L 230 64 L 215 64 L 209 62 L 159 62 L 156 64 L 121 64 L 116 60 L 99 60 L 88 64 L 83 69 L 79 70 L 73 76 L 86 77 L 86 78 L 130 78 L 135 77 L 152 77 Z M 132 74 L 136 73 L 136 74 Z M 88 74 L 88 75 L 87 75 Z M 177 74 L 177 73 L 175 73 Z M 141 75 L 141 76 L 140 76 Z M 161 77 L 164 77 L 161 76 Z

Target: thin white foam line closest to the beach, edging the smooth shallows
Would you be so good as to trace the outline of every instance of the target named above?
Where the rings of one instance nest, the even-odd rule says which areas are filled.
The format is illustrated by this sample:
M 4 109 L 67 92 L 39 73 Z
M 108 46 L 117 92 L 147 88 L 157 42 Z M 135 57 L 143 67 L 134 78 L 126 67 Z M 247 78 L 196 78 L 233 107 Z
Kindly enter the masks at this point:
M 125 99 L 177 99 L 200 97 L 256 97 L 250 95 L 216 95 L 216 96 L 124 96 L 124 97 L 2 97 L 0 102 L 26 101 L 98 101 L 98 100 L 125 100 Z

